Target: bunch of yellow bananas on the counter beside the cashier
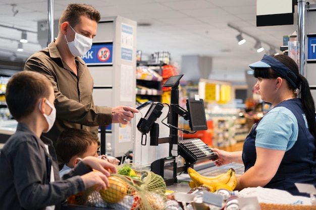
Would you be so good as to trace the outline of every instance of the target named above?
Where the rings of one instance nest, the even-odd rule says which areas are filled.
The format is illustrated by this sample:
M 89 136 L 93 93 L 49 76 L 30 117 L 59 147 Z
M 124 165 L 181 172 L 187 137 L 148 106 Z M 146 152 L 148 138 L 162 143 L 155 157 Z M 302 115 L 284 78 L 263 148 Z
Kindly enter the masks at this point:
M 233 191 L 237 185 L 237 177 L 235 170 L 230 168 L 226 173 L 218 176 L 202 176 L 193 168 L 188 168 L 188 174 L 192 181 L 189 182 L 191 188 L 205 186 L 210 192 L 215 192 L 218 189 L 228 189 Z

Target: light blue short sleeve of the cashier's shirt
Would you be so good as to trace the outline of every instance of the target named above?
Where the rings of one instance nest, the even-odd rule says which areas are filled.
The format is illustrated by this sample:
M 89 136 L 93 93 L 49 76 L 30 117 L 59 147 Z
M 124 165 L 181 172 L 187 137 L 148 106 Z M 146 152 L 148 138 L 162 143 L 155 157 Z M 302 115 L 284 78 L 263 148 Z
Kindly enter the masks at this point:
M 259 121 L 256 132 L 256 147 L 288 151 L 297 140 L 297 119 L 289 109 L 275 107 Z

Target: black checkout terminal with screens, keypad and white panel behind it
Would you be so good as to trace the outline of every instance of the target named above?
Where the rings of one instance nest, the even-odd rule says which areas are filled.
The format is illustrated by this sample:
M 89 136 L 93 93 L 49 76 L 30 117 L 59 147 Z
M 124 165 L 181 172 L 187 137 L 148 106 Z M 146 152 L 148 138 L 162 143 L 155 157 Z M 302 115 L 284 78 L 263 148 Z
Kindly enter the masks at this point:
M 207 129 L 202 99 L 197 95 L 188 98 L 187 110 L 179 106 L 178 86 L 182 76 L 172 76 L 163 85 L 171 87 L 170 105 L 151 102 L 133 119 L 137 123 L 133 133 L 133 163 L 161 175 L 167 186 L 178 183 L 177 174 L 186 172 L 193 164 L 217 159 L 217 154 L 201 139 L 181 137 L 182 133 Z M 190 130 L 178 126 L 179 116 L 189 122 Z

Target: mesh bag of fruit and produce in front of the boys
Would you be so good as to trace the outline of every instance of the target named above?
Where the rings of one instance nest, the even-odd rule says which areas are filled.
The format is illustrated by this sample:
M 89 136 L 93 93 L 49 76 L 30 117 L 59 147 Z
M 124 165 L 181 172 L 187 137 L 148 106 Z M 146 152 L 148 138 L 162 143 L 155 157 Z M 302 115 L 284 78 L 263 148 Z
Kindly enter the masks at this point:
M 89 188 L 77 196 L 75 204 L 132 210 L 164 209 L 167 196 L 163 177 L 140 167 L 137 170 L 133 164 L 120 165 L 118 170 L 123 167 L 131 169 L 129 175 L 111 174 L 110 187 L 99 192 Z

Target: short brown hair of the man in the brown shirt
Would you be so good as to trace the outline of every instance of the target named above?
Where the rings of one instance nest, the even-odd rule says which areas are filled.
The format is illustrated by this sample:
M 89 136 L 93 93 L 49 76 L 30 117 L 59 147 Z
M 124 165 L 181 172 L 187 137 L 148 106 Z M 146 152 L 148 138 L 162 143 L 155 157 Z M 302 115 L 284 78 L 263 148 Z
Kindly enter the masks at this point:
M 75 27 L 80 23 L 81 16 L 85 16 L 97 23 L 101 19 L 100 13 L 91 5 L 69 4 L 59 19 L 59 28 L 64 22 L 69 22 L 72 27 Z

